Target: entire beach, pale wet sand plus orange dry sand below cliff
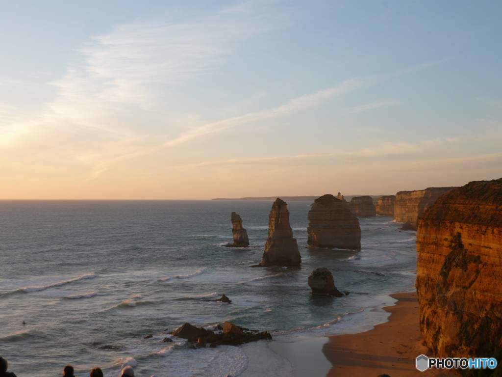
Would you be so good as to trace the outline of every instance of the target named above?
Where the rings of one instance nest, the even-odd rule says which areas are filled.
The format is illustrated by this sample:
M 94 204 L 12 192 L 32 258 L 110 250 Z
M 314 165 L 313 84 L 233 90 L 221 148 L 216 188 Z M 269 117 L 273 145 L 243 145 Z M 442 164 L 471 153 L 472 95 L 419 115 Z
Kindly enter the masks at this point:
M 271 349 L 287 358 L 295 377 L 326 376 L 454 377 L 448 370 L 415 368 L 415 358 L 430 355 L 419 329 L 416 292 L 390 295 L 395 305 L 382 308 L 390 313 L 386 322 L 359 333 L 332 335 L 294 344 L 271 344 Z M 321 356 L 322 354 L 322 356 Z

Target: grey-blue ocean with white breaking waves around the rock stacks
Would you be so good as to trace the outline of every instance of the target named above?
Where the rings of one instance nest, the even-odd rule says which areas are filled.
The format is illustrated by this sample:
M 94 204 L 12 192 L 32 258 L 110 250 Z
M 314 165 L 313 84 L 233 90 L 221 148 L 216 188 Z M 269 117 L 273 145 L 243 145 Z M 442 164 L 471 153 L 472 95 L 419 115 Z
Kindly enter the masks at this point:
M 138 376 L 292 376 L 274 342 L 368 329 L 416 277 L 416 234 L 389 217 L 359 219 L 359 251 L 307 248 L 310 204 L 288 203 L 302 254 L 301 268 L 288 269 L 252 267 L 270 201 L 0 201 L 0 356 L 18 377 L 62 374 L 68 363 L 77 377 L 96 366 L 119 377 L 126 365 Z M 248 248 L 222 247 L 231 212 Z M 317 267 L 350 294 L 312 296 Z M 222 294 L 232 303 L 204 301 Z M 197 350 L 162 342 L 185 322 L 225 320 L 274 340 Z

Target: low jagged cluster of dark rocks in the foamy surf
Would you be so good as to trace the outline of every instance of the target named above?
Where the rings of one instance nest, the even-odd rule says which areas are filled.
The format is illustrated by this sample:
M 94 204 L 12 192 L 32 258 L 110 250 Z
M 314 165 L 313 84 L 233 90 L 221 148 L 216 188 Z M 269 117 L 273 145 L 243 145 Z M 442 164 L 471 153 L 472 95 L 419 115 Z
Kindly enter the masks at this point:
M 268 331 L 259 332 L 257 330 L 249 330 L 245 327 L 236 326 L 228 321 L 225 321 L 223 326 L 218 325 L 218 330 L 219 331 L 215 332 L 185 323 L 180 328 L 168 334 L 186 339 L 190 343 L 196 343 L 196 348 L 205 347 L 206 345 L 209 345 L 209 347 L 216 347 L 223 344 L 239 345 L 242 343 L 256 342 L 262 339 L 272 339 L 272 335 L 270 335 Z

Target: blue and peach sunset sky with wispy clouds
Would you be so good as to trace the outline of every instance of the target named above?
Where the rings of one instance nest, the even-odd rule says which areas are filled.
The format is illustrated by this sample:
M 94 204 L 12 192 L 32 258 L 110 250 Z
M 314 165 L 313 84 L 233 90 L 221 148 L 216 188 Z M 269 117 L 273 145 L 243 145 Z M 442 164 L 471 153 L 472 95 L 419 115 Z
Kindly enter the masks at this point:
M 0 0 L 0 199 L 502 177 L 500 1 Z

